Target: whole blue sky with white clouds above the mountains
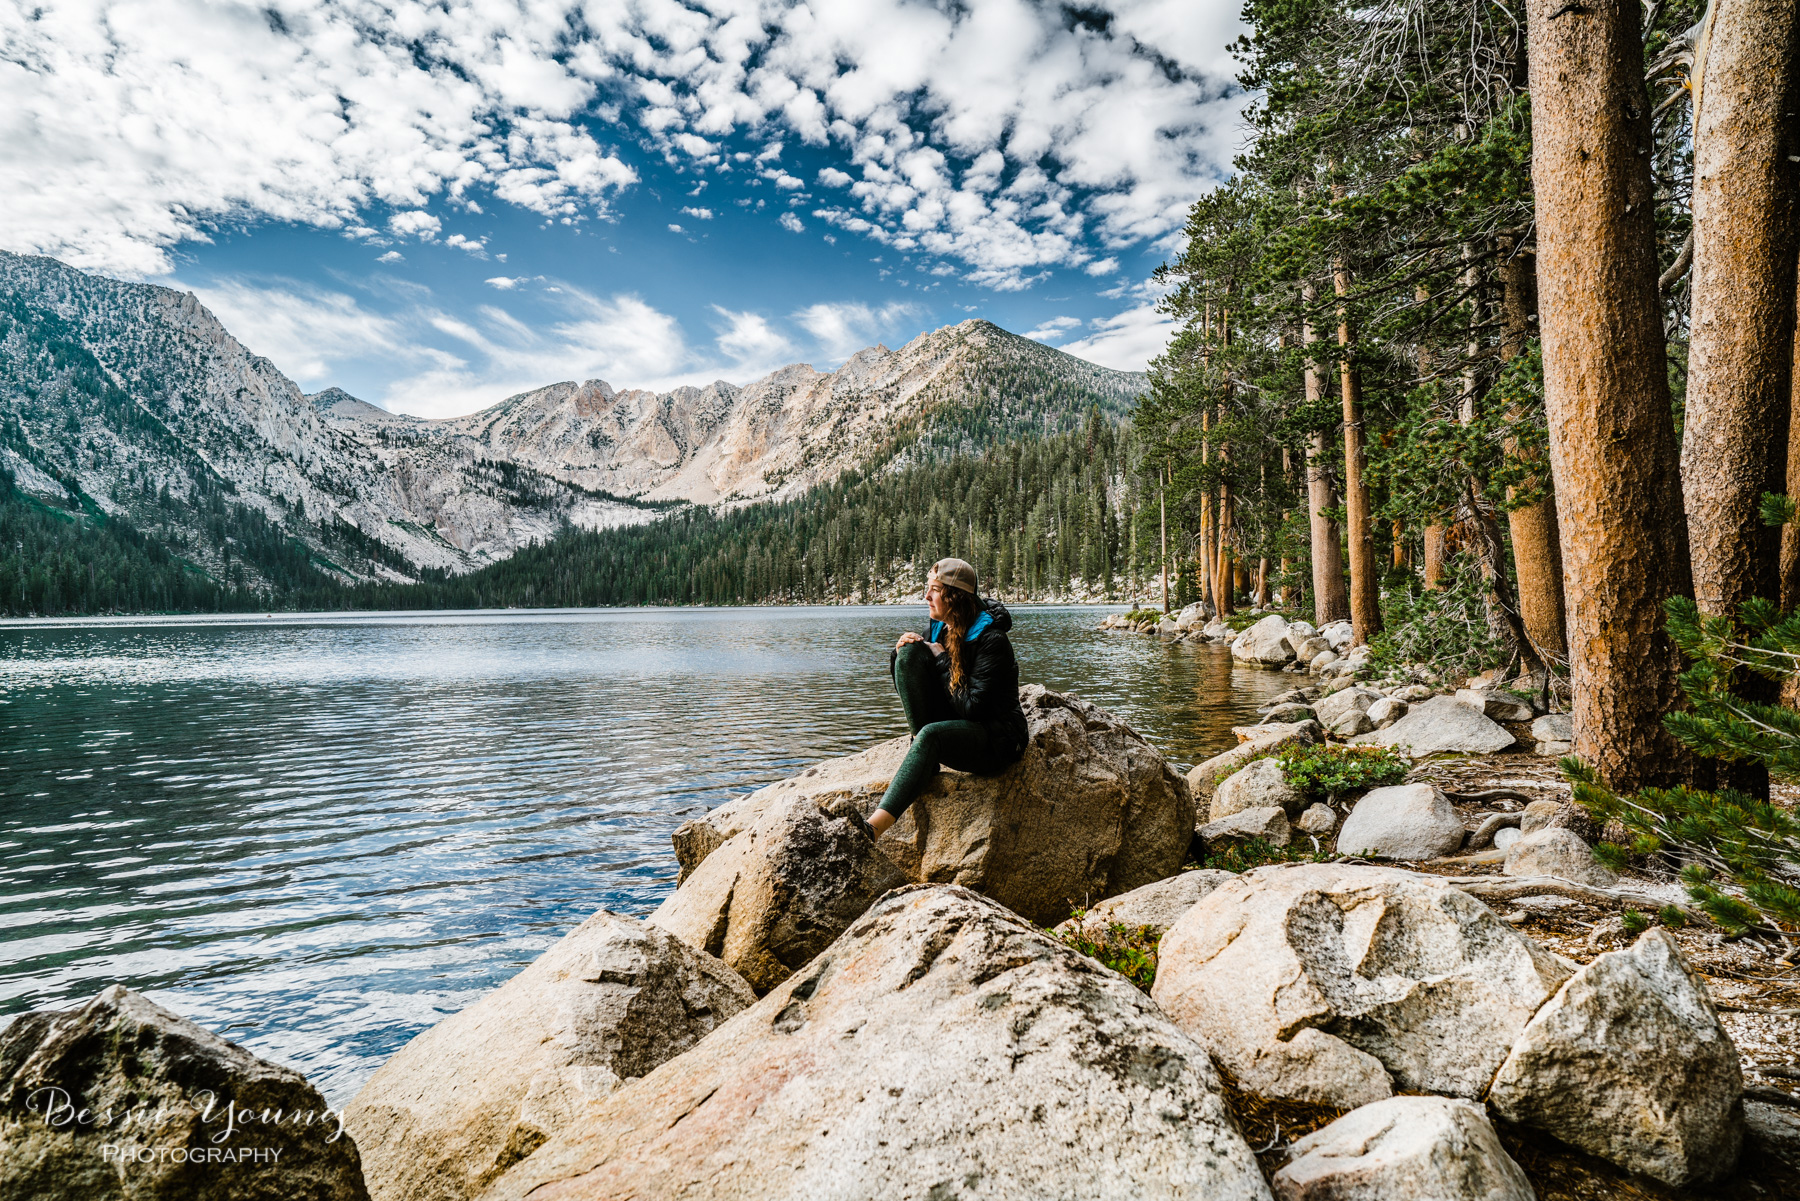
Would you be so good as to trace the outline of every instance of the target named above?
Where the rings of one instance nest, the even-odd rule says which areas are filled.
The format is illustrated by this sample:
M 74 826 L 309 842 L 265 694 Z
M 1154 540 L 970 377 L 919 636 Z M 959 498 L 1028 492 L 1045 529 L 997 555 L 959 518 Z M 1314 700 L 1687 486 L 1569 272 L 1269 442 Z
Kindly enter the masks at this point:
M 1235 4 L 0 5 L 0 245 L 452 416 L 968 317 L 1141 369 L 1238 142 Z

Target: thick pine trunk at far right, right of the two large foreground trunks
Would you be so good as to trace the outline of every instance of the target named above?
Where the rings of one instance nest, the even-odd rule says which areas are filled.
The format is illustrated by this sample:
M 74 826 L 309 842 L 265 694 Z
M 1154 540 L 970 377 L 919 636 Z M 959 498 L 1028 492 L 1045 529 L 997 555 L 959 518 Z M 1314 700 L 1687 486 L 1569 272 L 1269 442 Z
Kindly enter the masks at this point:
M 1800 252 L 1800 5 L 1715 0 L 1694 81 L 1694 317 L 1681 492 L 1701 612 L 1780 592 Z M 1760 677 L 1757 677 L 1757 682 Z

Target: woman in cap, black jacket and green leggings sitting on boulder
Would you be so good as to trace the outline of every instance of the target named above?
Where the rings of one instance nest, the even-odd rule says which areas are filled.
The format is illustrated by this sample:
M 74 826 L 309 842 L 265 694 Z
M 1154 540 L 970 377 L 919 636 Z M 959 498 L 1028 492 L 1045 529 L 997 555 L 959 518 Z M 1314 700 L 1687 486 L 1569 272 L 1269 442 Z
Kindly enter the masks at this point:
M 891 661 L 913 749 L 869 816 L 877 834 L 900 819 L 940 767 L 994 776 L 1019 762 L 1028 738 L 1006 607 L 976 596 L 976 569 L 959 558 L 932 565 L 925 605 L 931 636 L 902 634 Z

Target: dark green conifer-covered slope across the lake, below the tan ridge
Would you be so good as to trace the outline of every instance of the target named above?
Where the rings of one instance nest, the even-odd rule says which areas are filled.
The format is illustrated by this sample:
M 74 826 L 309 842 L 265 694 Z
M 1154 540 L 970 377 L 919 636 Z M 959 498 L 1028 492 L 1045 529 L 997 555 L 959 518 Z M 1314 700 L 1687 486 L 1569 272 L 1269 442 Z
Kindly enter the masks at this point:
M 565 531 L 504 564 L 414 587 L 362 587 L 380 609 L 742 605 L 918 592 L 956 555 L 1003 596 L 1100 596 L 1156 562 L 1154 511 L 1130 490 L 1129 429 L 1098 412 L 1080 432 L 920 457 L 853 474 L 797 501 L 689 506 L 666 520 Z M 1130 517 L 1139 517 L 1132 531 Z

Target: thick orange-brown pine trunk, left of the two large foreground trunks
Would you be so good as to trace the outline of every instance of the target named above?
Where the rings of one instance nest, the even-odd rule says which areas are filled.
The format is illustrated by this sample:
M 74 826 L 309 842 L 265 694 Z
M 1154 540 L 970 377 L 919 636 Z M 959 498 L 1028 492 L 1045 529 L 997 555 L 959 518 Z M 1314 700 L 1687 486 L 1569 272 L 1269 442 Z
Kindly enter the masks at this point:
M 1663 601 L 1692 589 L 1658 290 L 1636 4 L 1528 0 L 1532 185 L 1575 753 L 1616 789 L 1676 783 Z

